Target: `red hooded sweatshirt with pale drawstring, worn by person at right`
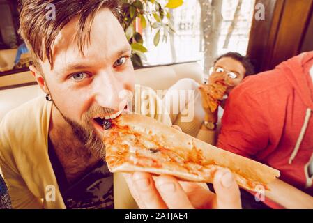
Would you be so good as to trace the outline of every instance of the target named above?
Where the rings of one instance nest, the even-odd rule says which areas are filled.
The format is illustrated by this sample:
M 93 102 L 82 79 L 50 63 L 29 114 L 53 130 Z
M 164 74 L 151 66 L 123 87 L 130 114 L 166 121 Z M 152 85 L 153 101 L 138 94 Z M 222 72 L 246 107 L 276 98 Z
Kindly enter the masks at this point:
M 312 66 L 313 52 L 307 52 L 247 77 L 229 95 L 217 143 L 280 170 L 281 180 L 311 195 Z

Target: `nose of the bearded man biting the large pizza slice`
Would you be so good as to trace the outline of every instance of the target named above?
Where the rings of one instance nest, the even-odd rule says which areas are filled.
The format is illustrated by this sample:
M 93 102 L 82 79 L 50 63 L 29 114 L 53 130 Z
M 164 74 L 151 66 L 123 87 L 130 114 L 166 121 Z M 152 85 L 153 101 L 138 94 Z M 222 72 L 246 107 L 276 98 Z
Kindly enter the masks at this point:
M 124 89 L 123 80 L 117 78 L 114 72 L 109 70 L 100 72 L 93 79 L 96 103 L 101 107 L 114 109 L 116 112 L 126 105 L 125 100 L 119 96 Z M 125 105 L 121 105 L 124 103 Z

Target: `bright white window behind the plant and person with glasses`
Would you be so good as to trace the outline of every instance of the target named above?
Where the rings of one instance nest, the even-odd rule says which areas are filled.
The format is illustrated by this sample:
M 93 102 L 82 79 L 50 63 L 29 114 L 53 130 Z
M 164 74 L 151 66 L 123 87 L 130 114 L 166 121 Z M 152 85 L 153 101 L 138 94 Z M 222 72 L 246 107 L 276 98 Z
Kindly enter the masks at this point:
M 160 41 L 155 47 L 153 38 L 155 33 L 151 29 L 144 30 L 144 44 L 148 49 L 148 65 L 176 63 L 184 61 L 201 61 L 204 66 L 206 53 L 203 35 L 210 31 L 211 23 L 205 26 L 205 31 L 201 29 L 201 3 L 211 4 L 213 1 L 220 3 L 220 35 L 217 40 L 217 51 L 215 56 L 225 52 L 235 51 L 246 54 L 249 42 L 250 28 L 254 12 L 254 0 L 188 0 L 183 6 L 172 10 L 174 27 L 176 33 L 167 39 L 167 42 Z M 200 3 L 201 2 L 201 3 Z M 204 13 L 211 13 L 207 8 L 203 8 Z M 204 32 L 203 32 L 204 31 Z M 161 38 L 162 39 L 162 38 Z M 211 64 L 209 65 L 211 66 Z

